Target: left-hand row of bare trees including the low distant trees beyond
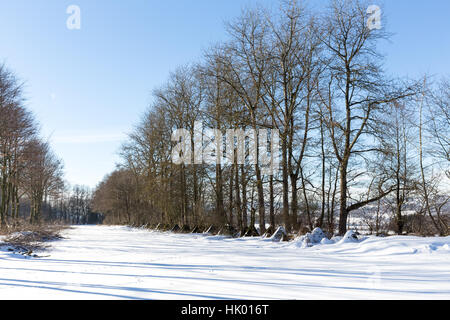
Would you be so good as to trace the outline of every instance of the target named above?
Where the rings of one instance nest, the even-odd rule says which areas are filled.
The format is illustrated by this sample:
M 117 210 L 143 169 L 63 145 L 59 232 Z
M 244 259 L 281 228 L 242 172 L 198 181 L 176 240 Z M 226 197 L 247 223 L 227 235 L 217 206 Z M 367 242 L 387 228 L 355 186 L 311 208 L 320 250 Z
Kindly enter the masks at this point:
M 91 191 L 71 188 L 63 163 L 25 106 L 23 83 L 0 65 L 0 224 L 19 226 L 60 221 L 98 223 L 91 210 Z

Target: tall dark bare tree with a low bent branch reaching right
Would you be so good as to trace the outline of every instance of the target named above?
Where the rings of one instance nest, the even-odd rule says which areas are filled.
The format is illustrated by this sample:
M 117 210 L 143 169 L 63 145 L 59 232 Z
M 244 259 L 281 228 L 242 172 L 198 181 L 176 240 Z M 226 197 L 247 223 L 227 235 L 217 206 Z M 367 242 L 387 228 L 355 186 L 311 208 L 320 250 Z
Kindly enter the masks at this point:
M 380 65 L 376 43 L 387 38 L 382 30 L 367 26 L 368 4 L 356 0 L 334 1 L 323 24 L 322 42 L 329 52 L 329 81 L 322 88 L 322 103 L 333 149 L 339 161 L 340 213 L 339 234 L 347 231 L 351 211 L 378 201 L 392 189 L 355 203 L 348 203 L 349 166 L 355 156 L 377 152 L 367 146 L 376 128 L 376 115 L 383 107 L 412 95 L 414 90 L 396 86 L 387 80 Z M 380 180 L 382 181 L 382 180 Z

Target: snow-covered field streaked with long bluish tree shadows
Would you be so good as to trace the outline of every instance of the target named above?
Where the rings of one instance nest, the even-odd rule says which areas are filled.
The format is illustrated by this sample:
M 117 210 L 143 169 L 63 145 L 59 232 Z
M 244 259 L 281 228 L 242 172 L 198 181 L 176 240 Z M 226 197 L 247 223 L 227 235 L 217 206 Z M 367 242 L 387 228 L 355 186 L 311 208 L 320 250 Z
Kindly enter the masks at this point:
M 0 251 L 1 299 L 450 299 L 450 237 L 300 248 L 82 226 L 42 258 Z

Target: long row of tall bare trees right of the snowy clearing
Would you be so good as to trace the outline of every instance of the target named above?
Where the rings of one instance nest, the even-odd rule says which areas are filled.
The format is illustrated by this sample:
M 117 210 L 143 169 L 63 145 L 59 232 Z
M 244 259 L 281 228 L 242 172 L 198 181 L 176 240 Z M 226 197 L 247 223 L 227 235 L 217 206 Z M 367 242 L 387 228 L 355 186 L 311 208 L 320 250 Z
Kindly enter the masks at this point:
M 377 234 L 448 234 L 450 82 L 388 75 L 377 46 L 389 34 L 368 26 L 368 7 L 243 10 L 226 24 L 227 41 L 153 91 L 95 210 L 109 223 L 241 235 L 278 225 L 343 235 L 352 217 Z M 193 142 L 199 121 L 221 132 L 277 130 L 280 167 L 265 174 L 248 152 L 240 164 L 237 140 L 229 164 L 174 164 L 172 133 L 186 129 Z

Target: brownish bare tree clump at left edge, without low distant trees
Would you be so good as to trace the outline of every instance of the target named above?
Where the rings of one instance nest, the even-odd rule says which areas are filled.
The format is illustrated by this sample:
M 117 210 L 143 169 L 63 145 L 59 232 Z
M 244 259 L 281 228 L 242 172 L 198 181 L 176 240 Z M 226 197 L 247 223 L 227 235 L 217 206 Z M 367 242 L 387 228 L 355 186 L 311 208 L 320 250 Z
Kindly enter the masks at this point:
M 39 223 L 46 199 L 64 188 L 63 166 L 25 107 L 23 85 L 0 65 L 0 224 Z M 26 204 L 27 213 L 23 213 Z

